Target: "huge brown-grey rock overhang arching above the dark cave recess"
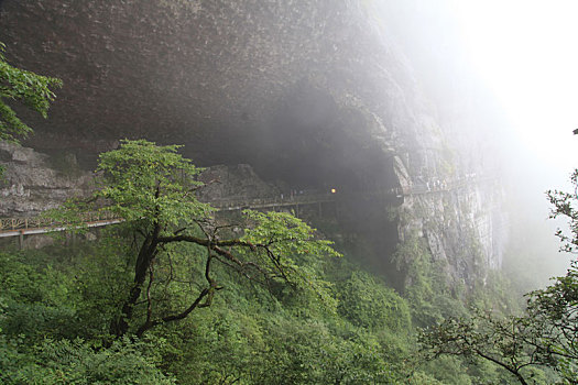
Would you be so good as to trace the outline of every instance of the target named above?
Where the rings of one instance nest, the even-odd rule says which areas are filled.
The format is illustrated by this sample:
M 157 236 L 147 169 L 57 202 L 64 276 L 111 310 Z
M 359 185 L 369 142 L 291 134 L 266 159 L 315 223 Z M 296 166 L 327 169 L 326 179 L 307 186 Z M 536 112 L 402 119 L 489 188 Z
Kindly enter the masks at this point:
M 145 135 L 185 143 L 208 164 L 251 157 L 262 143 L 244 136 L 276 133 L 286 97 L 307 87 L 361 111 L 368 122 L 359 122 L 358 133 L 370 131 L 385 146 L 428 124 L 408 64 L 358 1 L 4 0 L 1 7 L 9 59 L 65 85 L 48 121 L 28 117 L 35 147 L 102 151 L 107 141 Z M 235 146 L 223 145 L 225 138 Z

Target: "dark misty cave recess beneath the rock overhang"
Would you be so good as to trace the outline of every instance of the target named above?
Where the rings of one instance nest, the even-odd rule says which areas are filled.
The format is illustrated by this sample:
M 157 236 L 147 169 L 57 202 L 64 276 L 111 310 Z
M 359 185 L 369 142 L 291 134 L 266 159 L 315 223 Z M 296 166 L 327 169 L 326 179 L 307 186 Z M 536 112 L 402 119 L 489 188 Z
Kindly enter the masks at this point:
M 307 193 L 337 190 L 339 212 L 327 216 L 339 226 L 340 245 L 394 284 L 397 274 L 391 255 L 399 242 L 397 222 L 391 208 L 401 204 L 392 191 L 399 188 L 393 154 L 368 134 L 359 111 L 339 107 L 326 92 L 298 84 L 276 105 L 271 118 L 260 122 L 251 135 L 227 136 L 208 160 L 210 166 L 250 164 L 268 183 Z M 186 148 L 194 148 L 187 144 Z M 194 153 L 194 151 L 193 151 Z M 195 156 L 194 154 L 192 154 Z M 334 234 L 335 235 L 335 234 Z

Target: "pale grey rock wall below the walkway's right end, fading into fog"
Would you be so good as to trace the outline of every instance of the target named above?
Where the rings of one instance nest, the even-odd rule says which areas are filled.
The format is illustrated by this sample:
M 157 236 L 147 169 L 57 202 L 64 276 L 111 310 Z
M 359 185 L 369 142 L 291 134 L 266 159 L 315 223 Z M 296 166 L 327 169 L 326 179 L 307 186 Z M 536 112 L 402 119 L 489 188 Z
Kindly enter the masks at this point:
M 406 197 L 400 237 L 423 237 L 434 262 L 441 262 L 447 270 L 448 282 L 484 282 L 488 270 L 500 268 L 508 241 L 503 201 L 500 180 L 489 178 Z

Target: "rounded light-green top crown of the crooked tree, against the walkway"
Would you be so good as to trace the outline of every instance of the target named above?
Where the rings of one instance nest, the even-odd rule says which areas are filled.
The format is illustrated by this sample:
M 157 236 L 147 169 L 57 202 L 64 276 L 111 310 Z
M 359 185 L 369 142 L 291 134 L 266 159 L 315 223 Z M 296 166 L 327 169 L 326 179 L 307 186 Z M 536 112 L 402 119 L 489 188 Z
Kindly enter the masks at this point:
M 194 178 L 201 172 L 177 154 L 177 145 L 157 146 L 144 140 L 121 141 L 119 150 L 100 155 L 102 172 L 96 198 L 112 202 L 107 210 L 139 227 L 162 223 L 163 229 L 190 219 L 204 219 L 209 206 L 199 202 Z

